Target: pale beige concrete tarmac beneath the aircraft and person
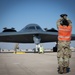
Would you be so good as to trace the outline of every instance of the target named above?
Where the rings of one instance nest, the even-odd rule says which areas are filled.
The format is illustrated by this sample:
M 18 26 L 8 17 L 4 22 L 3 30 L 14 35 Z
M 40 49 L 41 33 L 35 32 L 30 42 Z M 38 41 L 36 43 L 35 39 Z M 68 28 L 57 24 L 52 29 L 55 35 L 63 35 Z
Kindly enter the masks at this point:
M 71 72 L 75 75 L 75 52 L 70 59 Z M 0 75 L 60 75 L 57 72 L 57 53 L 0 53 Z

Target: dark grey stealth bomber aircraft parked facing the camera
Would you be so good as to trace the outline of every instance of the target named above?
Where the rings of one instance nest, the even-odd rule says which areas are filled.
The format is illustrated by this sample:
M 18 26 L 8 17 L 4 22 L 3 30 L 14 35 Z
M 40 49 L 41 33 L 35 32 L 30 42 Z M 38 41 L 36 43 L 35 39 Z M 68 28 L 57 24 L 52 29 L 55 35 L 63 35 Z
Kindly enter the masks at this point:
M 37 24 L 28 24 L 18 32 L 14 28 L 5 28 L 4 31 L 0 33 L 0 42 L 39 44 L 45 42 L 57 42 L 57 37 L 57 30 L 43 30 Z M 75 34 L 72 34 L 71 37 L 71 40 L 75 40 Z

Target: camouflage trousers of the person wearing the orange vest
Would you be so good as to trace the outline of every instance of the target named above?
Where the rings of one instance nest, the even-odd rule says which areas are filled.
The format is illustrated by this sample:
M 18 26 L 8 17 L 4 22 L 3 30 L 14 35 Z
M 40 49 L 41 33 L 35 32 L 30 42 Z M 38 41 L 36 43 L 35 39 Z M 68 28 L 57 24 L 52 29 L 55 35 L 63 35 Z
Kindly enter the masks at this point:
M 70 58 L 71 58 L 70 42 L 58 41 L 58 49 L 57 49 L 58 66 L 69 67 Z

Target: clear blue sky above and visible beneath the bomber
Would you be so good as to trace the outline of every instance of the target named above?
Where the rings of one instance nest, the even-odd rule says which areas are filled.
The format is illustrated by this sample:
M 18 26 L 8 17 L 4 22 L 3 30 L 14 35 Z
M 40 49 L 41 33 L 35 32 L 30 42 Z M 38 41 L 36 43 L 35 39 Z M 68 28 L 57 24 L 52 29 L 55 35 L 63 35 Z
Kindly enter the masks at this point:
M 0 32 L 4 27 L 14 27 L 20 31 L 30 23 L 44 28 L 57 29 L 56 22 L 60 14 L 66 13 L 72 21 L 72 33 L 75 34 L 75 0 L 0 0 Z M 13 49 L 15 43 L 0 43 L 2 49 Z M 53 43 L 43 43 L 45 48 L 52 48 Z M 75 47 L 75 41 L 71 42 Z M 21 49 L 35 48 L 35 44 L 19 44 Z

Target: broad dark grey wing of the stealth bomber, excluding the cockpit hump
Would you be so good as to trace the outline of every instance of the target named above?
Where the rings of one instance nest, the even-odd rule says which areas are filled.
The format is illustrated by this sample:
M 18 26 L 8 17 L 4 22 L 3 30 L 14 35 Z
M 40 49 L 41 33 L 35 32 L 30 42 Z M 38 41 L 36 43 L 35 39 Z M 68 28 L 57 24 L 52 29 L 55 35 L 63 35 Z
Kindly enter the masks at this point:
M 58 32 L 2 32 L 0 33 L 0 42 L 15 42 L 15 43 L 34 43 L 33 36 L 39 35 L 41 43 L 56 42 Z M 75 34 L 72 34 L 72 39 L 75 40 Z

